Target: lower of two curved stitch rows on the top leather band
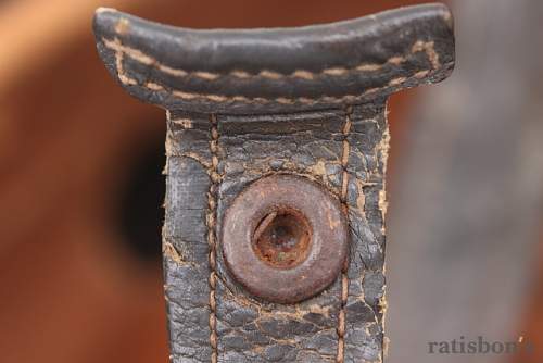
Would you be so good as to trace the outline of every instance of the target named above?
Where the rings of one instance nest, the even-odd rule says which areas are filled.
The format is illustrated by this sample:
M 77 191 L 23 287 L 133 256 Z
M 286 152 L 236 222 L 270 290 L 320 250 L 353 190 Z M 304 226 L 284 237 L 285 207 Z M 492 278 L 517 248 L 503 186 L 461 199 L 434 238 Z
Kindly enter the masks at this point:
M 116 41 L 118 39 L 115 38 Z M 105 39 L 104 39 L 105 41 Z M 199 100 L 199 99 L 204 99 L 206 101 L 212 101 L 212 102 L 243 102 L 243 103 L 270 103 L 270 102 L 276 102 L 279 104 L 315 104 L 315 103 L 353 103 L 361 98 L 364 98 L 366 96 L 370 96 L 374 93 L 377 93 L 379 91 L 382 91 L 384 89 L 391 88 L 391 87 L 399 87 L 403 85 L 404 83 L 411 80 L 411 79 L 422 79 L 426 78 L 430 72 L 439 70 L 441 67 L 440 61 L 439 61 L 439 54 L 433 51 L 433 46 L 432 47 L 424 47 L 419 46 L 421 49 L 431 49 L 432 51 L 427 51 L 427 57 L 429 61 L 433 64 L 431 70 L 420 70 L 419 72 L 415 73 L 414 75 L 409 77 L 397 77 L 394 79 L 391 79 L 386 86 L 382 87 L 377 87 L 377 88 L 369 88 L 362 92 L 361 95 L 345 95 L 342 97 L 331 97 L 331 96 L 323 96 L 319 98 L 307 98 L 307 97 L 299 97 L 299 98 L 285 98 L 285 97 L 278 97 L 274 99 L 267 99 L 263 97 L 245 97 L 245 96 L 224 96 L 224 95 L 213 95 L 213 93 L 195 93 L 195 92 L 187 92 L 187 91 L 181 91 L 181 90 L 172 90 L 168 91 L 164 86 L 154 83 L 154 82 L 146 82 L 144 84 L 140 85 L 135 78 L 129 77 L 126 75 L 126 72 L 123 66 L 123 60 L 124 60 L 124 52 L 122 49 L 113 49 L 115 51 L 115 65 L 117 68 L 117 77 L 121 80 L 122 84 L 128 85 L 128 86 L 139 86 L 143 87 L 146 89 L 152 90 L 152 91 L 164 91 L 168 92 L 169 96 L 174 98 L 178 98 L 181 100 Z M 137 60 L 140 63 L 141 60 Z M 155 64 L 155 61 L 150 61 L 146 60 L 147 63 L 142 64 Z M 151 63 L 149 63 L 151 62 Z M 454 62 L 450 62 L 445 64 L 445 66 L 451 66 L 454 64 Z M 182 71 L 185 72 L 185 71 Z

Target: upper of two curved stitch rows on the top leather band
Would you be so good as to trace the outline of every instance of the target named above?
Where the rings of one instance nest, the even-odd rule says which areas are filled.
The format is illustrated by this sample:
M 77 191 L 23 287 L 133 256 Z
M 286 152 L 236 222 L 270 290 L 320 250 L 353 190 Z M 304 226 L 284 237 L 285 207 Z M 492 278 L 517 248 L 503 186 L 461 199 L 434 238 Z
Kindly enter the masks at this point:
M 407 62 L 407 55 L 394 55 L 390 59 L 388 59 L 384 63 L 378 64 L 378 63 L 361 63 L 352 68 L 346 68 L 346 67 L 330 67 L 330 68 L 325 68 L 320 72 L 311 72 L 306 70 L 296 70 L 290 74 L 282 74 L 278 73 L 275 71 L 269 71 L 269 70 L 263 70 L 260 71 L 256 74 L 251 74 L 245 71 L 230 71 L 228 73 L 222 74 L 222 73 L 213 73 L 213 72 L 206 72 L 206 71 L 185 71 L 180 68 L 174 68 L 168 65 L 165 65 L 163 63 L 160 63 L 157 60 L 152 58 L 149 54 L 143 53 L 142 51 L 131 48 L 128 46 L 124 46 L 121 40 L 115 37 L 113 40 L 102 38 L 103 43 L 105 45 L 106 48 L 114 50 L 115 52 L 121 52 L 132 60 L 143 64 L 143 65 L 150 65 L 165 74 L 175 76 L 175 77 L 197 77 L 197 78 L 202 78 L 206 80 L 215 80 L 220 77 L 225 76 L 230 76 L 235 78 L 241 78 L 241 79 L 248 79 L 248 78 L 265 78 L 265 79 L 281 79 L 281 78 L 301 78 L 301 79 L 314 79 L 314 77 L 318 76 L 330 76 L 330 77 L 341 77 L 345 76 L 349 73 L 354 73 L 354 72 L 376 72 L 382 70 L 384 66 L 388 64 L 392 65 L 400 65 L 402 63 Z M 439 54 L 435 52 L 434 49 L 434 41 L 422 41 L 422 40 L 417 40 L 412 49 L 409 54 L 414 54 L 417 52 L 426 52 L 428 59 L 432 63 L 433 68 L 439 68 L 440 67 L 440 61 L 439 61 Z

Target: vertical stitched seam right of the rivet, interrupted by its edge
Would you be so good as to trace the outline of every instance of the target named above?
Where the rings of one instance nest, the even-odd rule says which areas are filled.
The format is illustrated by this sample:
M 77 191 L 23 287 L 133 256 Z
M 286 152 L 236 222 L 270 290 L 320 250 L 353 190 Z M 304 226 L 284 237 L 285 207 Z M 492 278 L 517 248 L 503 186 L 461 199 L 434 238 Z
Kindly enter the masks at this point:
M 348 193 L 348 185 L 349 185 L 349 153 L 351 151 L 351 145 L 349 143 L 349 134 L 352 127 L 352 116 L 353 109 L 349 107 L 345 112 L 345 124 L 343 125 L 343 151 L 341 155 L 341 166 L 343 168 L 342 177 L 341 177 L 341 203 L 343 205 L 343 211 L 345 216 L 349 218 L 349 205 L 346 202 L 346 193 Z M 343 363 L 345 359 L 345 306 L 349 297 L 349 276 L 348 272 L 348 263 L 345 261 L 345 265 L 341 272 L 341 309 L 338 315 L 338 354 L 336 356 L 337 363 Z

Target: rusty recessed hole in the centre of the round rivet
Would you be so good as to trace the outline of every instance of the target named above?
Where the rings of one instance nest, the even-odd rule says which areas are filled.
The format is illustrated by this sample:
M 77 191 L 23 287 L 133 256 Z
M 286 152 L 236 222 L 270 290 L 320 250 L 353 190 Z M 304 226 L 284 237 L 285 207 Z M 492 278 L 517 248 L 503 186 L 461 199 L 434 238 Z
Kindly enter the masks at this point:
M 253 249 L 262 261 L 276 268 L 292 268 L 308 254 L 312 230 L 305 216 L 290 209 L 267 214 L 253 235 Z

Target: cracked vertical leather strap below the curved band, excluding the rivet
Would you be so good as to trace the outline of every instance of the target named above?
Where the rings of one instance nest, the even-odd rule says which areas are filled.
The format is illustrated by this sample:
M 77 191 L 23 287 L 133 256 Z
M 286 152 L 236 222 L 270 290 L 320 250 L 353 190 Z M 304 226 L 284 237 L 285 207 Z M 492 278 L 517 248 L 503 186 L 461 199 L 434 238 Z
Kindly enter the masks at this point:
M 313 179 L 338 198 L 346 171 L 351 252 L 342 279 L 310 300 L 285 305 L 247 293 L 226 270 L 218 239 L 216 335 L 218 362 L 334 362 L 340 311 L 345 316 L 344 362 L 378 362 L 383 347 L 383 175 L 388 150 L 384 99 L 343 110 L 269 116 L 218 115 L 217 236 L 224 213 L 251 182 L 275 173 Z M 351 127 L 345 133 L 345 122 Z M 211 121 L 173 112 L 164 255 L 172 360 L 209 362 L 210 264 L 206 236 Z M 343 160 L 344 140 L 349 143 Z M 318 206 L 318 204 L 316 204 Z

